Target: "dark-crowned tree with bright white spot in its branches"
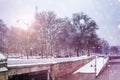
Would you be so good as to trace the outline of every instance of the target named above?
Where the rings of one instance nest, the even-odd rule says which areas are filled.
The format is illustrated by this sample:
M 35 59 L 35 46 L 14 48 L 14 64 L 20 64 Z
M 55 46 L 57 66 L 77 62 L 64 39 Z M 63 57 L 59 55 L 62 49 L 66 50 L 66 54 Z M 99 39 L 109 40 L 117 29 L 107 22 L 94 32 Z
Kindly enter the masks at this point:
M 76 43 L 77 56 L 79 56 L 79 50 L 85 48 L 86 42 L 89 53 L 89 47 L 93 44 L 89 44 L 90 37 L 93 33 L 96 34 L 95 31 L 98 29 L 95 21 L 84 13 L 75 13 L 73 14 L 73 26 L 76 30 L 76 35 L 78 35 L 76 36 L 76 40 L 78 41 Z

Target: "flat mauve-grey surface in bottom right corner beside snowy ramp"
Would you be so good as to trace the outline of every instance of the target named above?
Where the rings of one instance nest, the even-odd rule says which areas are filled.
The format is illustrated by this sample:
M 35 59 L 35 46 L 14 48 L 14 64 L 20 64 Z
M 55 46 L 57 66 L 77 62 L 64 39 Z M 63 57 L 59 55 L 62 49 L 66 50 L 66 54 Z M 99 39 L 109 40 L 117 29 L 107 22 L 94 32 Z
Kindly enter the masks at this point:
M 120 62 L 110 63 L 97 80 L 120 80 Z

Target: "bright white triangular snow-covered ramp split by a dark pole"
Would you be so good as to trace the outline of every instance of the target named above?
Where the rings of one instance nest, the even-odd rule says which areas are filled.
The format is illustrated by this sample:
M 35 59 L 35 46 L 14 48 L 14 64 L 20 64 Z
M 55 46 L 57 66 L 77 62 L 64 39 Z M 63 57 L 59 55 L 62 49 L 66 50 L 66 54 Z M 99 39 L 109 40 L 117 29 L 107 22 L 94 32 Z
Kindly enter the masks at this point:
M 84 65 L 77 71 L 75 71 L 73 74 L 76 73 L 96 73 L 96 76 L 99 74 L 103 66 L 108 61 L 108 58 L 105 57 L 96 57 L 96 59 L 93 59 L 88 64 Z M 96 71 L 95 71 L 95 63 L 96 63 Z

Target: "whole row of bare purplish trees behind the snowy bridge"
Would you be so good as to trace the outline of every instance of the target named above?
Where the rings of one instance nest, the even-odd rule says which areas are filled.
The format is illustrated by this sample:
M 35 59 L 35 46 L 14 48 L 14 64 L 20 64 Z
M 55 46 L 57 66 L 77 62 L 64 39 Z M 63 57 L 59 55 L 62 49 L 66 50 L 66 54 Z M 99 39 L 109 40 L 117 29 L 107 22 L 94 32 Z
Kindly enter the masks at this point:
M 59 18 L 52 11 L 35 15 L 27 30 L 7 27 L 0 20 L 0 51 L 21 56 L 80 56 L 105 53 L 109 43 L 101 39 L 98 25 L 85 13 L 74 13 L 72 18 Z

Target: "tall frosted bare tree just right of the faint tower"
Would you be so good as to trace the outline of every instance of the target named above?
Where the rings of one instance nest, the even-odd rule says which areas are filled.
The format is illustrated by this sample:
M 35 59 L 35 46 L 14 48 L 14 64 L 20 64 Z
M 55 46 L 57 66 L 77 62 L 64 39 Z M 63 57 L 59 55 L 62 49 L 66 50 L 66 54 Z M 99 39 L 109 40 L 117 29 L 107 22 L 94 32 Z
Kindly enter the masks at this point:
M 42 55 L 54 56 L 57 33 L 62 23 L 63 20 L 57 18 L 52 11 L 37 14 L 34 30 L 40 42 Z

